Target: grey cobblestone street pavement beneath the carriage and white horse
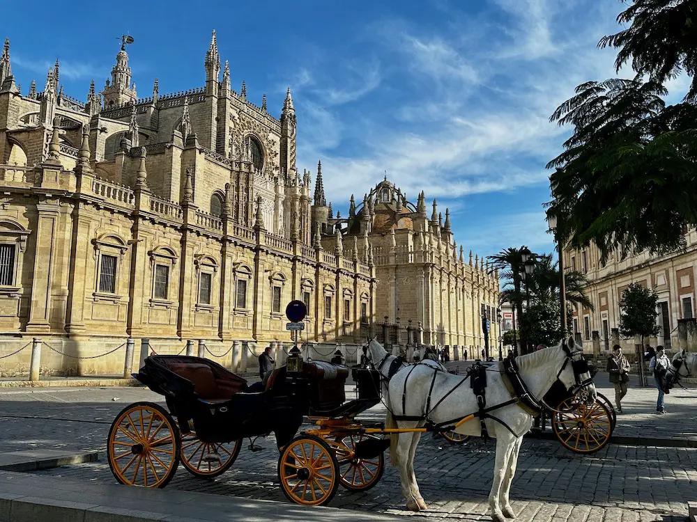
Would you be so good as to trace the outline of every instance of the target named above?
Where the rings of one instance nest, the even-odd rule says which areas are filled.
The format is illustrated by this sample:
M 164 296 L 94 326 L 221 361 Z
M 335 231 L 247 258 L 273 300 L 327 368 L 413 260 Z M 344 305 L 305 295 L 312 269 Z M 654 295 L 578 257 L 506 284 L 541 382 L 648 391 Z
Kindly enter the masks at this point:
M 671 412 L 666 416 L 630 413 L 618 419 L 618 430 L 629 423 L 631 416 L 645 416 L 641 421 L 645 423 L 643 429 L 656 430 L 669 424 L 673 436 L 679 436 L 680 426 L 694 431 L 694 419 L 683 422 L 681 414 L 673 413 L 677 410 L 670 406 L 671 400 L 677 404 L 678 395 L 680 401 L 688 404 L 692 400 L 694 405 L 694 398 L 682 393 L 685 397 L 677 392 L 666 397 L 666 408 Z M 142 388 L 0 393 L 0 447 L 3 451 L 36 447 L 104 451 L 109 425 L 125 404 L 139 400 L 161 402 L 161 398 Z M 654 390 L 632 389 L 627 398 L 631 399 L 625 406 L 627 411 L 633 407 L 643 411 L 651 406 L 647 401 L 653 400 Z M 379 419 L 382 414 L 376 407 L 365 416 Z M 278 453 L 273 437 L 256 443 L 264 448 L 261 452 L 248 450 L 245 441 L 236 464 L 216 480 L 197 479 L 181 468 L 168 488 L 285 502 L 277 485 Z M 455 446 L 442 438 L 424 435 L 415 468 L 422 494 L 429 503 L 428 512 L 406 511 L 399 477 L 389 464 L 374 489 L 348 493 L 339 488 L 331 505 L 410 516 L 414 521 L 489 520 L 487 496 L 494 450 L 493 442 L 475 439 Z M 114 482 L 103 457 L 93 464 L 36 473 Z M 687 501 L 697 498 L 697 449 L 609 445 L 582 457 L 556 441 L 528 440 L 521 450 L 511 496 L 519 521 L 684 521 Z

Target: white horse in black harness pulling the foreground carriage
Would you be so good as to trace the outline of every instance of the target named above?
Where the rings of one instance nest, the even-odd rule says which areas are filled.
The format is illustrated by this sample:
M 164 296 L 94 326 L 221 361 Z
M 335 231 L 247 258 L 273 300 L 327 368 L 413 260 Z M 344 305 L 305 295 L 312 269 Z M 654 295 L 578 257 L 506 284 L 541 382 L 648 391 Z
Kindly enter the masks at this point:
M 374 355 L 378 357 L 380 355 L 378 347 L 377 343 L 369 343 L 370 357 L 375 365 L 380 362 L 379 358 L 374 358 Z M 559 379 L 567 390 L 583 383 L 588 392 L 588 403 L 592 404 L 595 402 L 597 394 L 590 373 L 588 371 L 574 372 L 574 363 L 581 361 L 582 358 L 583 352 L 576 347 L 574 339 L 569 338 L 566 346 L 560 342 L 556 347 L 519 356 L 516 358 L 516 363 L 528 390 L 538 400 Z M 579 368 L 587 370 L 587 367 L 583 367 L 583 365 L 579 365 Z M 388 429 L 413 429 L 426 425 L 424 419 L 395 420 L 393 415 L 422 418 L 424 414 L 428 413 L 428 421 L 431 424 L 445 423 L 445 426 L 452 427 L 457 420 L 477 413 L 479 411 L 477 399 L 470 388 L 469 380 L 465 382 L 464 379 L 468 378 L 447 372 L 434 373 L 434 369 L 426 365 L 402 368 L 392 376 L 388 383 L 386 401 L 388 415 L 385 419 L 385 427 Z M 408 393 L 405 391 L 407 380 Z M 487 409 L 509 402 L 511 399 L 498 368 L 488 368 Z M 427 411 L 428 407 L 431 408 L 431 411 Z M 489 494 L 489 505 L 491 505 L 491 517 L 496 522 L 503 522 L 505 518 L 515 518 L 509 501 L 509 492 L 516 473 L 523 435 L 532 427 L 533 416 L 517 404 L 503 406 L 491 411 L 489 415 L 500 421 L 497 422 L 491 418 L 484 420 L 487 432 L 491 437 L 496 438 L 496 467 Z M 464 422 L 454 431 L 464 435 L 481 436 L 480 420 L 475 417 Z M 406 506 L 413 511 L 428 509 L 419 491 L 414 473 L 414 455 L 420 437 L 421 434 L 418 432 L 400 433 L 393 434 L 390 441 L 390 458 L 392 464 L 399 468 L 401 489 L 404 498 L 406 498 Z

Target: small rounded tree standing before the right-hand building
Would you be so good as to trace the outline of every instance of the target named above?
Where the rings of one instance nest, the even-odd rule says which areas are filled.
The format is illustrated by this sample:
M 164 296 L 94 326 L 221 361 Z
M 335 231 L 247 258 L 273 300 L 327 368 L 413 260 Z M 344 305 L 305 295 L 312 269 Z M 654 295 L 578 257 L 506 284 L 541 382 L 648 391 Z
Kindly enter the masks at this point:
M 650 288 L 632 283 L 622 292 L 620 299 L 620 333 L 622 335 L 641 335 L 643 351 L 644 338 L 659 333 L 656 324 L 658 294 Z

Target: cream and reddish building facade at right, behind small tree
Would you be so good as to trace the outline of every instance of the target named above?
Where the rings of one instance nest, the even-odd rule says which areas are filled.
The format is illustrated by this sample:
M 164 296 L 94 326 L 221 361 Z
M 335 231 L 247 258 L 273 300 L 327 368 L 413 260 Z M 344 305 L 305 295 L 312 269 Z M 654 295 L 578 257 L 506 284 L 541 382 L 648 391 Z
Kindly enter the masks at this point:
M 593 310 L 578 306 L 573 317 L 574 333 L 586 351 L 593 351 L 595 339 L 595 351 L 604 352 L 619 343 L 631 349 L 630 353 L 634 352 L 635 340 L 623 339 L 618 333 L 620 299 L 630 283 L 651 287 L 659 294 L 657 323 L 661 331 L 645 342 L 654 347 L 664 345 L 666 349 L 680 347 L 678 321 L 695 317 L 697 275 L 697 231 L 684 230 L 684 234 L 685 251 L 661 256 L 641 253 L 625 260 L 615 254 L 604 267 L 599 263 L 600 253 L 595 246 L 565 251 L 565 269 L 582 271 L 588 278 L 585 292 Z

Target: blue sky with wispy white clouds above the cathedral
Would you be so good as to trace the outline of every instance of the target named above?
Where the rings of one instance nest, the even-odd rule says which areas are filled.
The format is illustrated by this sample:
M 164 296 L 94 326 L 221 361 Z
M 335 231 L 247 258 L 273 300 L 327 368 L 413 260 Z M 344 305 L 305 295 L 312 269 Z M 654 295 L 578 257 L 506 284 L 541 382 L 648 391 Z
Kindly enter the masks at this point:
M 328 200 L 346 214 L 382 180 L 415 202 L 450 207 L 458 244 L 480 255 L 528 244 L 553 249 L 542 203 L 544 166 L 570 130 L 548 121 L 576 85 L 615 76 L 616 0 L 268 0 L 151 2 L 137 10 L 75 1 L 34 1 L 26 16 L 6 8 L 13 73 L 24 93 L 43 90 L 56 56 L 61 81 L 85 100 L 98 88 L 130 33 L 133 80 L 141 97 L 203 86 L 210 31 L 233 88 L 279 114 L 291 86 L 298 114 L 298 167 L 322 161 Z M 201 4 L 203 6 L 204 4 Z M 16 9 L 16 13 L 12 10 Z M 9 11 L 9 13 L 8 13 Z M 631 77 L 631 74 L 622 74 Z M 668 85 L 680 97 L 684 79 Z M 673 95 L 675 90 L 675 95 Z M 429 205 L 429 214 L 431 212 Z

